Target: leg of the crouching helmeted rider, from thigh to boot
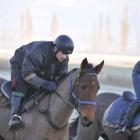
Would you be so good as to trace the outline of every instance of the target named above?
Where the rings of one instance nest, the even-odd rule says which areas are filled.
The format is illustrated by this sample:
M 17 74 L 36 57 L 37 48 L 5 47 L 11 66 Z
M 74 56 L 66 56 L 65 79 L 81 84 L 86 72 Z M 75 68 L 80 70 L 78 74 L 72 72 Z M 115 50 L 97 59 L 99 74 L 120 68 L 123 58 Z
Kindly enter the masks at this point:
M 22 119 L 20 116 L 20 107 L 22 99 L 27 92 L 27 85 L 22 80 L 21 73 L 16 72 L 12 74 L 12 98 L 11 98 L 11 119 L 9 122 L 10 128 L 15 128 L 22 124 Z

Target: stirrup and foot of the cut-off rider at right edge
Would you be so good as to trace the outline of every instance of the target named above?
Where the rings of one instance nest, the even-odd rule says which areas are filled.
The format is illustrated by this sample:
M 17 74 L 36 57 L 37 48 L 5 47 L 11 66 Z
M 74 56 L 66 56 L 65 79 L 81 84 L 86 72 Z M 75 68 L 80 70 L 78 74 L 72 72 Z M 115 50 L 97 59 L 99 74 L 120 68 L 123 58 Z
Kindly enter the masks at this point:
M 123 128 L 119 128 L 118 130 L 115 131 L 116 134 L 120 134 L 122 136 L 131 136 L 132 132 L 127 129 L 127 125 L 125 125 Z

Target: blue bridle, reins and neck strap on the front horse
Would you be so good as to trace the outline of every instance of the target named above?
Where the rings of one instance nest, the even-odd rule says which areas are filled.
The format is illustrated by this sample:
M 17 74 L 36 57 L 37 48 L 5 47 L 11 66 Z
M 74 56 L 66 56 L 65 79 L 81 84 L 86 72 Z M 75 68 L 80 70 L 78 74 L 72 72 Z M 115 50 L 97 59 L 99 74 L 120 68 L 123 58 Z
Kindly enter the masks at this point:
M 76 94 L 75 89 L 76 89 L 76 85 L 79 84 L 79 74 L 76 78 L 76 80 L 74 81 L 74 83 L 72 82 L 72 77 L 71 77 L 71 73 L 73 73 L 75 70 L 77 69 L 73 69 L 70 73 L 69 73 L 69 77 L 68 77 L 68 88 L 70 90 L 70 96 L 71 98 L 74 99 L 74 103 L 72 103 L 71 101 L 69 101 L 68 99 L 66 99 L 65 97 L 61 96 L 57 91 L 55 91 L 55 94 L 62 100 L 64 101 L 66 104 L 70 105 L 73 108 L 76 108 L 76 110 L 79 112 L 80 114 L 80 106 L 81 105 L 96 105 L 96 101 L 95 100 L 80 100 L 78 94 Z M 94 77 L 97 77 L 97 75 L 95 73 L 86 73 L 86 75 L 91 75 Z M 96 78 L 97 79 L 97 78 Z M 51 119 L 51 114 L 49 111 L 50 108 L 50 100 L 51 100 L 51 94 L 49 94 L 49 101 L 48 101 L 48 106 L 47 106 L 47 110 L 46 110 L 46 115 L 47 115 L 47 120 L 49 122 L 49 124 L 54 128 L 54 129 L 63 129 L 65 128 L 68 123 L 66 123 L 63 126 L 57 126 L 56 124 L 53 123 L 52 119 Z

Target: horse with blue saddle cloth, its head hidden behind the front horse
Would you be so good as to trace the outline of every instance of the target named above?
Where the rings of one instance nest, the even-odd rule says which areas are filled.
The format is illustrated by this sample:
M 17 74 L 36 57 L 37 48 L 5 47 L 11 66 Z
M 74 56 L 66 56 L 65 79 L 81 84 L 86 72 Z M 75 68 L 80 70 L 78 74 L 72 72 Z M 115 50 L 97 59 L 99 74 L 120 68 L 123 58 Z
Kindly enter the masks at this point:
M 132 122 L 132 135 L 116 134 L 129 105 L 135 101 L 135 95 L 124 91 L 122 96 L 115 93 L 100 93 L 96 97 L 94 122 L 89 127 L 78 124 L 77 135 L 73 140 L 140 140 L 140 113 L 137 112 Z M 81 122 L 81 121 L 79 121 Z

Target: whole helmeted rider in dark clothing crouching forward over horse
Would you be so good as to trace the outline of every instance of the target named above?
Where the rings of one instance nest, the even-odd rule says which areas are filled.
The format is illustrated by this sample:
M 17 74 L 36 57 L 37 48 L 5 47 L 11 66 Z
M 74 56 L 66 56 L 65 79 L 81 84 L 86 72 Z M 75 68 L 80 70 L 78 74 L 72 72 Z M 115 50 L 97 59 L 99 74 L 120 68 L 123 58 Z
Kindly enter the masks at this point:
M 35 41 L 18 48 L 11 58 L 11 120 L 9 127 L 22 124 L 20 106 L 29 89 L 46 93 L 56 89 L 55 78 L 68 71 L 68 54 L 74 49 L 72 39 L 67 35 L 58 36 L 55 41 Z

